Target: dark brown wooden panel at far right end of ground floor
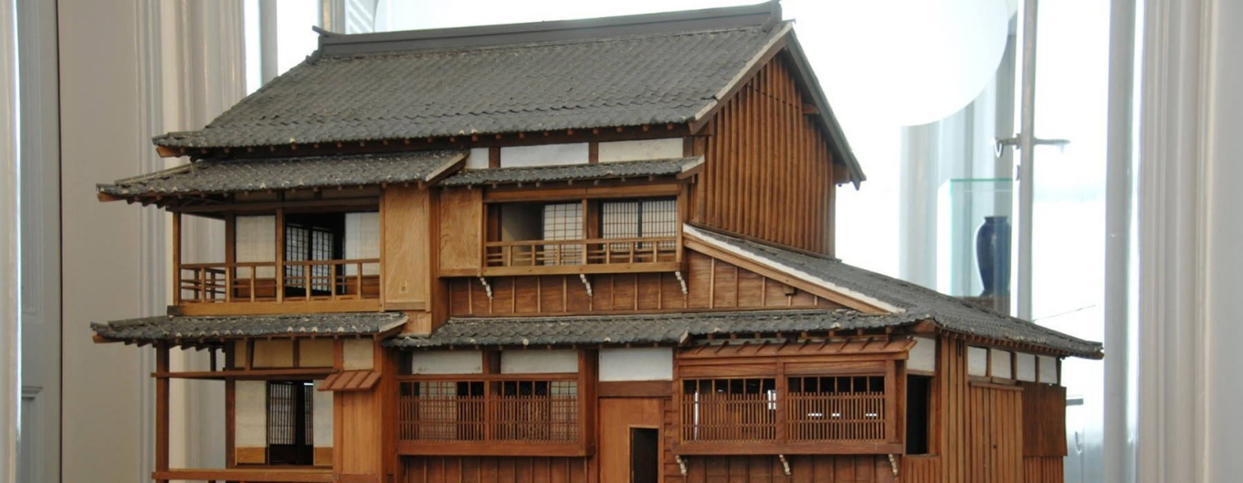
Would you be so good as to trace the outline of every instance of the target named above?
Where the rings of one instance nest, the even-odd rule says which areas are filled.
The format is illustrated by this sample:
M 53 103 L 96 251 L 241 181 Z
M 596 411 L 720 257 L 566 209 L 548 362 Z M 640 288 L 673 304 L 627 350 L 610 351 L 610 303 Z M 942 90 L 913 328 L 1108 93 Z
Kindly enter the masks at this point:
M 1066 456 L 1066 389 L 1049 384 L 1023 386 L 1023 456 Z

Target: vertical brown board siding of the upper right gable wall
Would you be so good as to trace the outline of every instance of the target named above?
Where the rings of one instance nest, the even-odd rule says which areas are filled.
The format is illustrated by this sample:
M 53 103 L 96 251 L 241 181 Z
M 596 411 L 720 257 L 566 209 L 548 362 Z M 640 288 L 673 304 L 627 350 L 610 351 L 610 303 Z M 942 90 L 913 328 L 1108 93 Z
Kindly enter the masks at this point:
M 773 57 L 712 119 L 695 221 L 833 255 L 829 144 L 787 63 Z

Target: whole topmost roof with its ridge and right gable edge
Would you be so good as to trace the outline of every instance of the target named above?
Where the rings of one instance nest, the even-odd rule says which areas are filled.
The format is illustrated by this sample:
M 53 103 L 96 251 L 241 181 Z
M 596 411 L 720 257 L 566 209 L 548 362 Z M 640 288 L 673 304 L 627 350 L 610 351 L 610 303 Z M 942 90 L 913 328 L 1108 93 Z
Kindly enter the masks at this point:
M 405 32 L 321 32 L 305 62 L 169 148 L 242 148 L 702 122 L 756 62 L 789 48 L 864 179 L 778 1 L 623 17 Z

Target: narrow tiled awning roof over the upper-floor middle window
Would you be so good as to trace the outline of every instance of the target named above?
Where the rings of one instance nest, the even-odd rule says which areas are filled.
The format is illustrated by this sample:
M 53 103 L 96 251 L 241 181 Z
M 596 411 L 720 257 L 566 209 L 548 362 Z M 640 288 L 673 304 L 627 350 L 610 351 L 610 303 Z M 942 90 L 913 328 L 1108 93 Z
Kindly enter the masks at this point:
M 539 183 L 635 176 L 674 176 L 704 163 L 704 156 L 559 166 L 466 169 L 441 181 L 445 186 Z

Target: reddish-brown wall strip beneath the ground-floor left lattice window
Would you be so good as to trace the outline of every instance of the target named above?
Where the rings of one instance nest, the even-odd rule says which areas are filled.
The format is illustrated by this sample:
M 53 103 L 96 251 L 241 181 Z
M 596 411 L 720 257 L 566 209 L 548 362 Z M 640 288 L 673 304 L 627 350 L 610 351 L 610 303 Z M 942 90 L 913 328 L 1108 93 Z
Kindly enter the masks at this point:
M 589 483 L 588 458 L 561 457 L 404 457 L 405 483 Z

